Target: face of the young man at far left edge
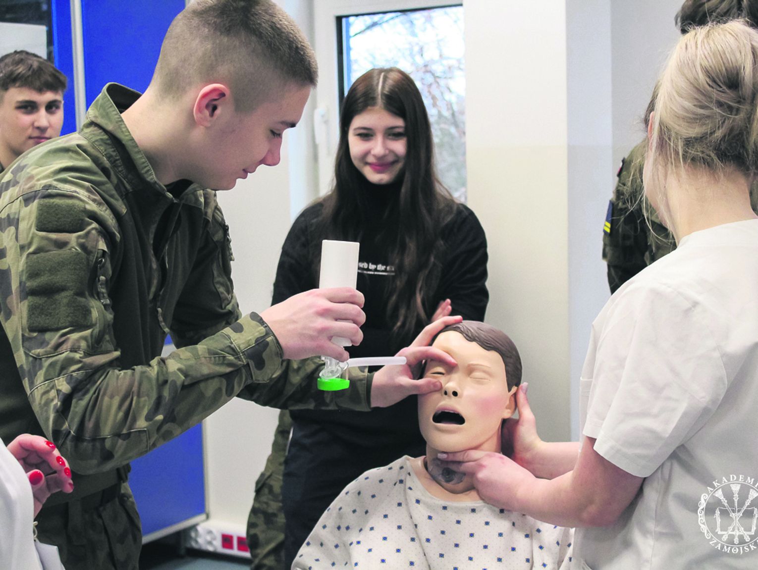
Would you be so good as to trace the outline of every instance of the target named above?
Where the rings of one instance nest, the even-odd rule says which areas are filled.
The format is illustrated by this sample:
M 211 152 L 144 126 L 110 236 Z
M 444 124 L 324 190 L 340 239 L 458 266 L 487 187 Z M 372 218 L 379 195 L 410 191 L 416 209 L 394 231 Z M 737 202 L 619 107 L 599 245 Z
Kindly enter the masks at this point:
M 61 134 L 63 94 L 11 87 L 0 102 L 0 163 L 7 167 L 33 146 Z

